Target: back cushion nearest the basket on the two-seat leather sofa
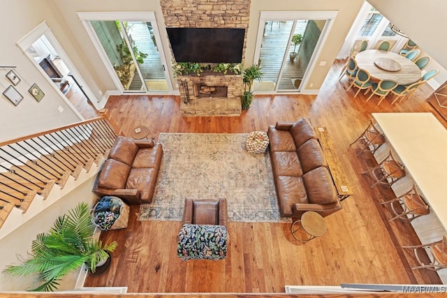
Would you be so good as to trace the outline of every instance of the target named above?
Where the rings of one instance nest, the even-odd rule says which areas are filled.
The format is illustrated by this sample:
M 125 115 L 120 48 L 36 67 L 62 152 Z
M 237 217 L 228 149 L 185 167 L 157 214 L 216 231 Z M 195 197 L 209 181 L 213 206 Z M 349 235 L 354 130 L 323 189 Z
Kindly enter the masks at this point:
M 98 186 L 103 188 L 124 189 L 131 167 L 109 158 L 104 162 L 98 177 Z

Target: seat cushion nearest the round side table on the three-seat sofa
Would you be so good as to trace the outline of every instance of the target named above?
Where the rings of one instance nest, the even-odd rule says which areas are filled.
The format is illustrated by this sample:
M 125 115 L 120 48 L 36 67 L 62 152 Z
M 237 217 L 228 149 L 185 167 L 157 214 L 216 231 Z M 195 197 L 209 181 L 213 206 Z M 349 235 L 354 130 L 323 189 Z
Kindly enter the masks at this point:
M 294 204 L 308 202 L 306 188 L 301 177 L 279 176 L 276 182 L 281 216 L 291 216 Z

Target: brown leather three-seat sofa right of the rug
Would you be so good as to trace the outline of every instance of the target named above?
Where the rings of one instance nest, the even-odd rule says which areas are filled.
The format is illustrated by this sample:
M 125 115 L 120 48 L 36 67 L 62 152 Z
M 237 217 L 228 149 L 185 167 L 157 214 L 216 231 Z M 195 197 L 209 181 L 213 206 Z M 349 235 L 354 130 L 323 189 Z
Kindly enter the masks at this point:
M 269 126 L 270 158 L 279 212 L 300 218 L 305 211 L 328 216 L 342 209 L 318 135 L 307 118 Z

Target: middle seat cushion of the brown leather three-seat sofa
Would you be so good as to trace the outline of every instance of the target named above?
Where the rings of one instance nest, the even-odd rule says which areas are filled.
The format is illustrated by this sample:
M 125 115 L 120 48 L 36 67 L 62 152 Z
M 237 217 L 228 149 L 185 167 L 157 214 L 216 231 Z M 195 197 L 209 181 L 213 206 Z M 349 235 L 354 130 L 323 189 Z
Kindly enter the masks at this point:
M 275 151 L 272 158 L 274 176 L 302 176 L 300 159 L 296 151 Z

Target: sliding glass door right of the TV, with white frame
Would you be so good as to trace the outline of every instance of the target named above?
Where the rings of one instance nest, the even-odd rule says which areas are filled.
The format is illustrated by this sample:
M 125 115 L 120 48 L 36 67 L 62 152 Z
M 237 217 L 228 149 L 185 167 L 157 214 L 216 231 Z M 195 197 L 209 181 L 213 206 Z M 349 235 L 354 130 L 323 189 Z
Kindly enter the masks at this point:
M 313 66 L 314 54 L 327 27 L 326 12 L 261 12 L 262 28 L 254 61 L 261 64 L 262 82 L 254 91 L 298 92 Z

